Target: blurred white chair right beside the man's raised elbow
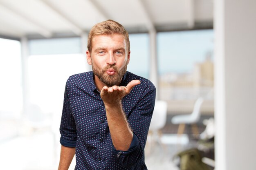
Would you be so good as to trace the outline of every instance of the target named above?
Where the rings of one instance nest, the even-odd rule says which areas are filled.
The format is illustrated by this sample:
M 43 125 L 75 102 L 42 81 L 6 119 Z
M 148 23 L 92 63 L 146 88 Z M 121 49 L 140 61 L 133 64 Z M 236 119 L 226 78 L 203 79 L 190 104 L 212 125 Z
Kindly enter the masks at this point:
M 161 129 L 166 124 L 166 115 L 167 115 L 167 102 L 158 100 L 155 102 L 155 108 L 153 112 L 153 116 L 151 119 L 151 123 L 149 126 L 149 148 L 152 147 L 152 144 L 157 141 L 162 147 L 163 144 L 161 142 Z

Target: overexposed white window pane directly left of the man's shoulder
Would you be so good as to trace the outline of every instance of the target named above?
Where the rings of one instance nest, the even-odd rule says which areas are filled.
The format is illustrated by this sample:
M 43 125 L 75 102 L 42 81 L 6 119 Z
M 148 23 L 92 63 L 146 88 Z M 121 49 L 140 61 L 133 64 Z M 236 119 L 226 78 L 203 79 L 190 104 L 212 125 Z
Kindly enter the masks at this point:
M 30 101 L 45 112 L 61 115 L 65 84 L 69 76 L 85 72 L 82 54 L 29 56 Z

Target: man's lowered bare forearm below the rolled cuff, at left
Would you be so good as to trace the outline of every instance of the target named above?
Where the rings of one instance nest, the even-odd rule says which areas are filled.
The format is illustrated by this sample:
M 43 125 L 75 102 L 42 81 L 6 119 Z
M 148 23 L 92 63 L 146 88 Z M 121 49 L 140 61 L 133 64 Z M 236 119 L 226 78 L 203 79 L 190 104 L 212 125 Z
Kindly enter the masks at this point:
M 61 157 L 58 170 L 68 170 L 70 163 L 75 155 L 76 148 L 65 147 L 61 145 Z

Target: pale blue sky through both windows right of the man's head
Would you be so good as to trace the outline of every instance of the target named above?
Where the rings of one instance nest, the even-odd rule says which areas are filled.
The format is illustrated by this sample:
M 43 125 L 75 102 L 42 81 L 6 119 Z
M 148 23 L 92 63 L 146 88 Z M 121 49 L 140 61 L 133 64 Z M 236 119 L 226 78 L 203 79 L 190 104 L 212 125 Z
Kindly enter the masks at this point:
M 128 71 L 148 77 L 149 45 L 146 33 L 130 35 L 131 57 Z M 213 53 L 213 48 L 212 29 L 158 33 L 158 72 L 160 75 L 190 72 L 195 62 L 202 62 L 207 53 Z

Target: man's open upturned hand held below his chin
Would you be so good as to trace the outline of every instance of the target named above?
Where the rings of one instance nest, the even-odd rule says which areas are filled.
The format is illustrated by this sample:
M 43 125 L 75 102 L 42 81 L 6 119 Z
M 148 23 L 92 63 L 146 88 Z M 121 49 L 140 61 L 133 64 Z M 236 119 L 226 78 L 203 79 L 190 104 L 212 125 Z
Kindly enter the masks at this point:
M 136 85 L 140 84 L 139 80 L 132 80 L 127 86 L 112 86 L 107 87 L 104 86 L 101 90 L 101 98 L 104 104 L 108 104 L 110 106 L 116 105 L 121 101 L 121 99 L 128 95 L 132 88 Z

